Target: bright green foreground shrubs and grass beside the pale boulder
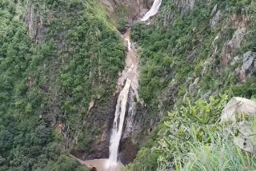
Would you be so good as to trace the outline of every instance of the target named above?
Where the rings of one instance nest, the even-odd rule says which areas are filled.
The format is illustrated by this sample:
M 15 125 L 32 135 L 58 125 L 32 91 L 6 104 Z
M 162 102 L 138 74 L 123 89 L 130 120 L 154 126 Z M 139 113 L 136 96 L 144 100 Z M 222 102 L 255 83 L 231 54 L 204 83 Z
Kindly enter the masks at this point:
M 219 95 L 192 105 L 187 99 L 186 105 L 168 114 L 127 169 L 256 169 L 255 155 L 234 146 L 232 132 L 236 132 L 236 125 L 218 123 L 228 100 L 227 95 Z

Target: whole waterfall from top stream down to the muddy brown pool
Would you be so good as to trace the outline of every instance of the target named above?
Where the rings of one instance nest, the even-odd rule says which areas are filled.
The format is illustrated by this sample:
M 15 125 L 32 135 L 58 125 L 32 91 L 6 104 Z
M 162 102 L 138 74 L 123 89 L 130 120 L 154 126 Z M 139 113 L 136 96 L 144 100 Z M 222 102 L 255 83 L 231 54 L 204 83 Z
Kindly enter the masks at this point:
M 151 16 L 157 14 L 161 2 L 162 0 L 154 1 L 153 6 L 142 18 L 142 22 L 146 22 Z M 118 78 L 118 87 L 121 87 L 122 90 L 118 95 L 117 105 L 115 107 L 114 123 L 110 136 L 109 159 L 78 160 L 82 165 L 95 167 L 98 171 L 122 170 L 122 163 L 118 160 L 118 149 L 123 133 L 123 126 L 125 122 L 127 127 L 129 125 L 132 126 L 132 121 L 136 114 L 132 111 L 134 103 L 129 103 L 129 99 L 134 101 L 134 98 L 136 98 L 136 101 L 140 101 L 138 97 L 138 56 L 134 47 L 132 47 L 132 42 L 130 42 L 130 28 L 126 30 L 126 33 L 122 37 L 127 45 L 126 66 L 122 70 L 120 78 Z M 130 117 L 130 121 L 125 121 L 126 117 Z

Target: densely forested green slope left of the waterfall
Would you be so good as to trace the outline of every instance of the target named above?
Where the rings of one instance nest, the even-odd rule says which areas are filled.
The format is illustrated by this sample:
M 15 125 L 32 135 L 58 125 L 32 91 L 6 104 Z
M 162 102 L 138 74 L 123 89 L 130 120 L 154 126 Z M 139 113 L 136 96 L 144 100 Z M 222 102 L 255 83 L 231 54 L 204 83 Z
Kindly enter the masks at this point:
M 90 149 L 89 103 L 106 104 L 123 67 L 104 11 L 96 1 L 0 0 L 0 170 L 86 170 L 61 154 Z

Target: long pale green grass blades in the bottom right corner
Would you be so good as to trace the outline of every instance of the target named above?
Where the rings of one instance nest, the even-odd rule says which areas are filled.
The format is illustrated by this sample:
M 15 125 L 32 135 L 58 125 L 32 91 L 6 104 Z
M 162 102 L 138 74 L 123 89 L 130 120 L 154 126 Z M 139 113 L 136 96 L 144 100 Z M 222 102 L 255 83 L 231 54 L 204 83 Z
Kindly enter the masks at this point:
M 256 156 L 221 138 L 212 145 L 193 145 L 190 153 L 177 159 L 177 170 L 256 170 Z

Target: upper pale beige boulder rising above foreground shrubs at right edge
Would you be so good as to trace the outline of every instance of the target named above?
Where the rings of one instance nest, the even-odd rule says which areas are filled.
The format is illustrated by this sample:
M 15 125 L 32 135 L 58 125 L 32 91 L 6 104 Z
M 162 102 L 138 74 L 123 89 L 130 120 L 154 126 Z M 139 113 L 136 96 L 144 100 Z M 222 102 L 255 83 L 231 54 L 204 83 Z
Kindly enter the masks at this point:
M 236 121 L 242 117 L 242 113 L 256 115 L 256 103 L 242 97 L 233 97 L 222 110 L 221 122 Z

